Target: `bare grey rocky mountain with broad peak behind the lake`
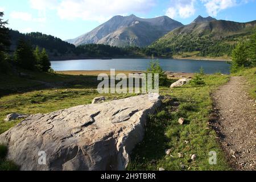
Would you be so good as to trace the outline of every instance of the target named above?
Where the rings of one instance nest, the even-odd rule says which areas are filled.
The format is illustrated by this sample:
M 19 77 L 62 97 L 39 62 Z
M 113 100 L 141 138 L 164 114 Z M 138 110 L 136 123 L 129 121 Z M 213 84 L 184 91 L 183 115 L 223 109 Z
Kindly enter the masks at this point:
M 135 15 L 114 16 L 87 34 L 67 42 L 81 44 L 108 44 L 110 46 L 148 46 L 183 24 L 168 16 L 143 19 Z

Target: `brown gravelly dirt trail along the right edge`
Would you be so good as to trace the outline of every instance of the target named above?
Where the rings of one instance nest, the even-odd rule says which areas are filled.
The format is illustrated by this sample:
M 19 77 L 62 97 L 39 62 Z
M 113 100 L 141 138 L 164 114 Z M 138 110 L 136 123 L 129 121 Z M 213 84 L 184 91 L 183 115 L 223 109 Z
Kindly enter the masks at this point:
M 220 143 L 237 170 L 256 169 L 256 106 L 243 77 L 231 77 L 214 94 Z

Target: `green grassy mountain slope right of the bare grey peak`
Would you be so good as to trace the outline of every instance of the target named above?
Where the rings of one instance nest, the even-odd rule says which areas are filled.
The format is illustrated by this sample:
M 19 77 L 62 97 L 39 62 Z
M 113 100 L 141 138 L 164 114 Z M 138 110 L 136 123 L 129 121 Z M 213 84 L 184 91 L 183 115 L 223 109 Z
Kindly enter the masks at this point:
M 230 56 L 239 40 L 246 40 L 256 27 L 256 20 L 247 23 L 213 20 L 191 23 L 164 35 L 149 48 L 158 54 L 197 52 L 197 56 Z

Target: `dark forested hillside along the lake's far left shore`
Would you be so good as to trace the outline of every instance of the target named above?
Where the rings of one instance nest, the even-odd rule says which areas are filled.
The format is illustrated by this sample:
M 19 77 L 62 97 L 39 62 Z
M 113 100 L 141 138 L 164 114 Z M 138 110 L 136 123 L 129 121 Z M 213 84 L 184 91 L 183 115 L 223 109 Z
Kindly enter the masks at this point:
M 40 32 L 22 34 L 19 31 L 10 30 L 11 52 L 14 52 L 20 39 L 30 43 L 33 47 L 46 48 L 51 60 L 65 59 L 89 59 L 100 57 L 115 57 L 127 55 L 127 51 L 118 47 L 102 44 L 88 44 L 76 47 L 59 38 Z

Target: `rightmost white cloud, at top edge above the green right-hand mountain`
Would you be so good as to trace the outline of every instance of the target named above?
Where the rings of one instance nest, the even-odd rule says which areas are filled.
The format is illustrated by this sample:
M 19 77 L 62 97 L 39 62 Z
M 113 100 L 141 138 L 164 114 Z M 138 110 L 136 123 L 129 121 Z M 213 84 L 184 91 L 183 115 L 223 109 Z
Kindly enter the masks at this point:
M 237 5 L 236 0 L 201 0 L 210 16 L 217 16 L 221 10 Z M 246 3 L 246 1 L 245 1 Z

